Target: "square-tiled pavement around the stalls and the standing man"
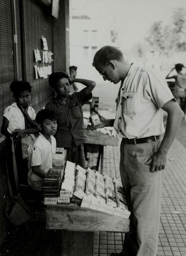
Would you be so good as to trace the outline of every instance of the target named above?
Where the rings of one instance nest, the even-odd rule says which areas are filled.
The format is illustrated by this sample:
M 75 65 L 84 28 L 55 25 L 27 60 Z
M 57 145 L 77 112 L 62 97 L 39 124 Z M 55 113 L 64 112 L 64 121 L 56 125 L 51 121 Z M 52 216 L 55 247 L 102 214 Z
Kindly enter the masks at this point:
M 96 165 L 96 154 L 89 154 L 88 165 Z M 119 146 L 104 148 L 104 170 L 119 178 Z M 25 227 L 8 234 L 0 255 L 60 256 L 61 231 L 45 230 L 46 209 L 33 210 L 29 232 Z M 96 232 L 94 256 L 106 256 L 122 249 L 124 234 Z M 164 176 L 157 256 L 185 255 L 186 252 L 186 148 L 175 139 L 168 154 Z

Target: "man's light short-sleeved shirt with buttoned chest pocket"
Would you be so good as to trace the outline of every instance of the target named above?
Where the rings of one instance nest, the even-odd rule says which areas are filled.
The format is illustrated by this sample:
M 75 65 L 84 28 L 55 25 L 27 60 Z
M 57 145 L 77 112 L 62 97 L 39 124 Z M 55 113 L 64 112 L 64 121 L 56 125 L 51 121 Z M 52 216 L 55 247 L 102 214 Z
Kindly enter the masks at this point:
M 145 138 L 164 133 L 163 105 L 174 99 L 165 79 L 131 65 L 121 82 L 114 128 L 122 138 Z

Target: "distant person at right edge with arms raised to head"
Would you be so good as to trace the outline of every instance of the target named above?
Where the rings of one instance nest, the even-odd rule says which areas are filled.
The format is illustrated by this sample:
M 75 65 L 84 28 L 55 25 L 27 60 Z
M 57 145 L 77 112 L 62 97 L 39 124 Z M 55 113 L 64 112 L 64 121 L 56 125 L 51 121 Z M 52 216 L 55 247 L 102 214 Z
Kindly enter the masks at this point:
M 182 68 L 185 68 L 184 65 L 178 63 L 175 65 L 174 68 L 171 69 L 171 71 L 166 76 L 166 79 L 175 79 L 174 91 L 172 93 L 179 105 L 181 105 L 182 101 L 185 101 L 186 97 L 186 74 L 182 73 Z M 169 76 L 174 69 L 176 69 L 176 72 L 178 74 L 174 76 Z M 184 112 L 186 112 L 185 107 L 183 110 Z

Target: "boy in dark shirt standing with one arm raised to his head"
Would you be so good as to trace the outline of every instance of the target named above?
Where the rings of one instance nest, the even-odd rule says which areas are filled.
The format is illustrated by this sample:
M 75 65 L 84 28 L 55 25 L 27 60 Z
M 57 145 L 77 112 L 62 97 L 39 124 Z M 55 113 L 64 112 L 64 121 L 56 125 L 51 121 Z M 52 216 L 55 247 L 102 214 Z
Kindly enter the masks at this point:
M 82 83 L 86 88 L 69 95 L 73 82 Z M 91 91 L 96 83 L 86 79 L 69 78 L 67 73 L 59 71 L 49 76 L 49 85 L 57 93 L 57 97 L 45 106 L 54 112 L 57 120 L 57 147 L 64 147 L 67 150 L 68 161 L 85 168 L 83 143 L 86 142 L 87 136 L 82 106 L 92 98 Z

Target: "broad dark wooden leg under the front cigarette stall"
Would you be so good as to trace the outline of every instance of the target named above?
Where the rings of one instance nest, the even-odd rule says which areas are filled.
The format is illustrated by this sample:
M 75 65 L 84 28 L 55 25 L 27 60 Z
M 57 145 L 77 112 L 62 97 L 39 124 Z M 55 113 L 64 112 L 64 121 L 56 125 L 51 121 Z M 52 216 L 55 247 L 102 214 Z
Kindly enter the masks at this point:
M 62 231 L 61 256 L 92 256 L 94 232 Z

